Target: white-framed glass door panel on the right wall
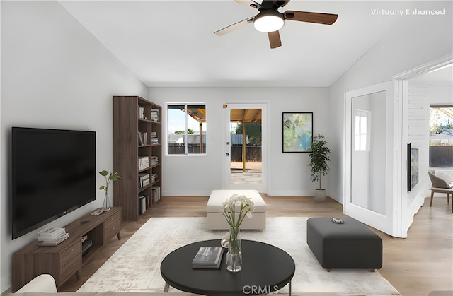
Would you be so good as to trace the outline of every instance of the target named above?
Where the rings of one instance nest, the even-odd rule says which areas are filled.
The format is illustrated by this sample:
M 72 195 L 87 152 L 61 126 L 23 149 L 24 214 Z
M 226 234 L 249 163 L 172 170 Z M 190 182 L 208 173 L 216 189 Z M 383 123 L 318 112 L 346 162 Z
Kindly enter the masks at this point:
M 343 213 L 396 236 L 398 104 L 393 83 L 345 94 Z

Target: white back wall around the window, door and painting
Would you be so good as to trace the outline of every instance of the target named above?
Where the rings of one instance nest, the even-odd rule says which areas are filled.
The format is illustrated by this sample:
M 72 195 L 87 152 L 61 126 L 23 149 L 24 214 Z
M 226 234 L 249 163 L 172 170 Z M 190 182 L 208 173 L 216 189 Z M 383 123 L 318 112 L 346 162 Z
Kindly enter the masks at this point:
M 282 153 L 282 112 L 314 112 L 314 134 L 328 138 L 328 88 L 149 88 L 149 100 L 165 107 L 168 102 L 205 102 L 207 155 L 165 155 L 163 194 L 208 196 L 222 188 L 224 170 L 225 103 L 268 103 L 268 194 L 312 196 L 308 153 Z M 166 112 L 163 112 L 166 131 Z M 165 146 L 164 142 L 164 146 Z M 329 175 L 323 182 L 328 189 Z

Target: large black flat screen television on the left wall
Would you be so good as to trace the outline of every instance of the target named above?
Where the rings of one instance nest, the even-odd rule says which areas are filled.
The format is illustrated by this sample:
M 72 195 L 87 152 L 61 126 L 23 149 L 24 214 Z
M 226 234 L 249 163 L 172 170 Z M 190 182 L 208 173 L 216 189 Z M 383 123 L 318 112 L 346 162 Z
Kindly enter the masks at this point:
M 96 199 L 96 132 L 13 127 L 11 226 L 16 239 Z

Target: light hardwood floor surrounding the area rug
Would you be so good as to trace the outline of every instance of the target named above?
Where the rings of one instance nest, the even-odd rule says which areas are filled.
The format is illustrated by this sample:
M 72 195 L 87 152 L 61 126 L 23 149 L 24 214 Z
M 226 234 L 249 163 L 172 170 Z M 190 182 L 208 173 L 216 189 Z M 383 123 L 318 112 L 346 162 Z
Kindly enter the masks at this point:
M 342 205 L 333 199 L 316 203 L 312 197 L 273 197 L 263 194 L 269 217 L 343 216 Z M 453 201 L 452 201 L 453 202 Z M 138 221 L 123 221 L 122 239 L 113 238 L 81 269 L 81 280 L 73 276 L 60 289 L 76 291 L 151 217 L 206 216 L 207 196 L 166 196 Z M 453 295 L 453 214 L 445 198 L 429 199 L 415 215 L 408 238 L 397 239 L 374 230 L 383 242 L 383 266 L 379 273 L 389 280 L 401 295 Z M 331 271 L 335 272 L 335 270 Z

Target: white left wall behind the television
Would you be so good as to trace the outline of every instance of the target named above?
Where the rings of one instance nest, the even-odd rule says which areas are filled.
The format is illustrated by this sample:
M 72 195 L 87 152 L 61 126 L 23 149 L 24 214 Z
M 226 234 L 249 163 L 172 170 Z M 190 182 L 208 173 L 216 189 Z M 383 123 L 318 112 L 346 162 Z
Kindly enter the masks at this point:
M 0 292 L 4 292 L 11 285 L 13 252 L 37 237 L 33 232 L 11 241 L 11 126 L 96 131 L 97 168 L 113 170 L 112 96 L 146 97 L 147 88 L 57 2 L 0 3 Z M 102 201 L 98 191 L 96 201 L 50 225 L 64 226 Z

